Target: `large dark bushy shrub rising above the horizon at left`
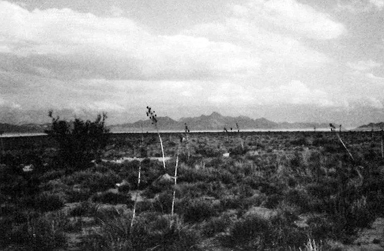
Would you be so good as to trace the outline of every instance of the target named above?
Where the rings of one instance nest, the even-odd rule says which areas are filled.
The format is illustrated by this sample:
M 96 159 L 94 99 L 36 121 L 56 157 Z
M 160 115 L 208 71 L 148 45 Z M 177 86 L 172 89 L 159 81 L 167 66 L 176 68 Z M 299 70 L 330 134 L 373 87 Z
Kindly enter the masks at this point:
M 92 159 L 98 159 L 107 145 L 108 129 L 105 126 L 106 114 L 98 114 L 96 120 L 74 121 L 52 118 L 51 128 L 46 130 L 58 144 L 58 157 L 68 168 L 87 167 Z

